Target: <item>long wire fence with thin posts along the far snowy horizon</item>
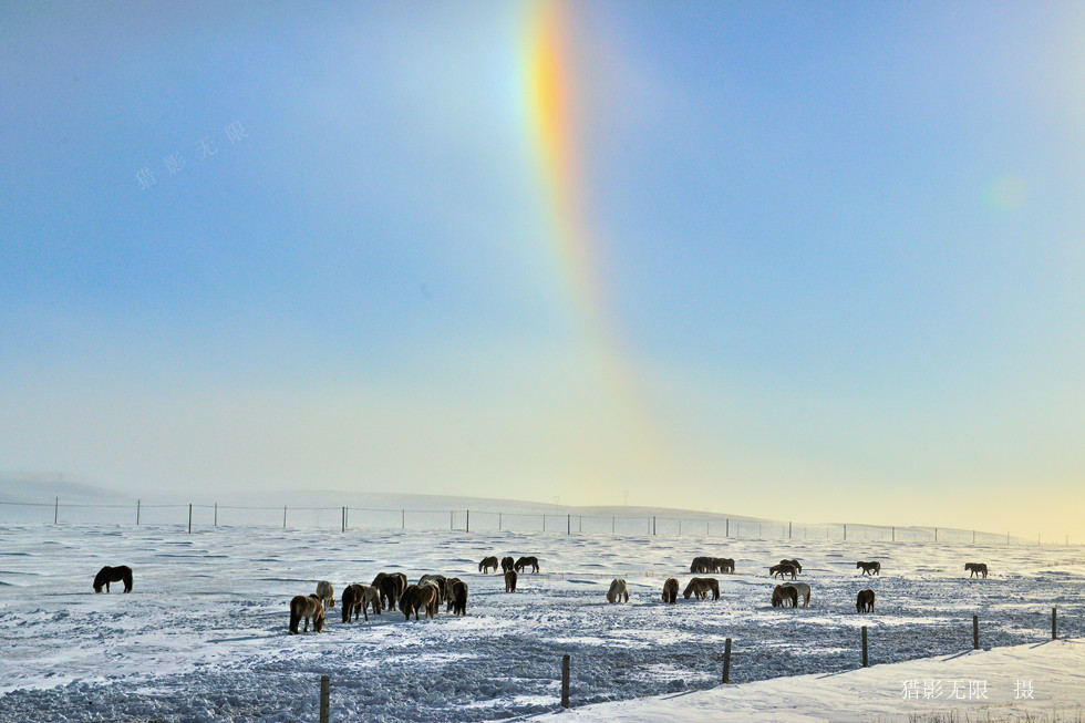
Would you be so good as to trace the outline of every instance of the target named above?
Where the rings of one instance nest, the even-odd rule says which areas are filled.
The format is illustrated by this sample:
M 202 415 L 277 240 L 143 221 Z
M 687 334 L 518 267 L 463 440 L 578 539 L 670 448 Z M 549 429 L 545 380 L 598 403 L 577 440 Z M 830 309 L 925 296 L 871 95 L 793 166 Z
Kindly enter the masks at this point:
M 1070 538 L 1026 539 L 1006 533 L 947 527 L 898 527 L 864 524 L 799 524 L 733 518 L 721 515 L 582 515 L 493 509 L 417 509 L 332 506 L 254 506 L 211 504 L 127 504 L 0 502 L 0 524 L 182 525 L 188 531 L 206 527 L 282 527 L 340 529 L 414 529 L 451 531 L 554 533 L 724 537 L 738 539 L 803 539 L 884 543 L 954 543 L 976 545 L 1068 545 Z

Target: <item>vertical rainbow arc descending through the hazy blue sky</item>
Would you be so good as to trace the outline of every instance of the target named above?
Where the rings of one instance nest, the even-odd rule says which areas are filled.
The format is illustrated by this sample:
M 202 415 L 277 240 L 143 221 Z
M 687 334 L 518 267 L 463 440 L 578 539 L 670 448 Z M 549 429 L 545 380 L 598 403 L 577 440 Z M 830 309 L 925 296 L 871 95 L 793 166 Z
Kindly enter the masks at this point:
M 611 391 L 614 417 L 627 427 L 629 469 L 659 483 L 666 481 L 664 475 L 670 468 L 664 464 L 666 445 L 661 430 L 653 424 L 654 416 L 648 412 L 643 379 L 608 307 L 599 242 L 591 231 L 585 200 L 588 188 L 578 147 L 580 109 L 574 84 L 570 7 L 545 0 L 528 7 L 521 72 L 527 136 L 545 189 L 552 252 L 593 351 L 598 372 Z

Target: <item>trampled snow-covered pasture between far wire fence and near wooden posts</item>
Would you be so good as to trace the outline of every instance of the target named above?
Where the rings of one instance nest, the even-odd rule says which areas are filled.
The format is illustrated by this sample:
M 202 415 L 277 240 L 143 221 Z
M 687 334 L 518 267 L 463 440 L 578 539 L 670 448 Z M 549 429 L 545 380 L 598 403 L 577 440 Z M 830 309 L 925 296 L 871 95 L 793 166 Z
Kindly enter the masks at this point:
M 488 555 L 537 555 L 542 572 L 505 595 L 477 572 Z M 722 599 L 664 606 L 663 580 L 684 586 L 696 555 L 736 559 L 736 575 L 717 576 Z M 790 557 L 814 589 L 808 610 L 769 605 L 766 568 Z M 857 559 L 880 560 L 881 577 L 860 577 Z M 968 579 L 967 561 L 991 577 Z M 107 564 L 134 569 L 132 595 L 94 595 Z M 345 626 L 337 608 L 323 633 L 287 633 L 292 596 L 381 570 L 463 578 L 468 616 Z M 618 576 L 632 599 L 610 606 Z M 865 587 L 876 614 L 855 611 Z M 711 688 L 725 638 L 745 683 L 855 669 L 862 624 L 872 664 L 970 650 L 973 613 L 984 648 L 1048 639 L 1052 607 L 1061 634 L 1079 637 L 1083 591 L 1079 547 L 7 524 L 0 720 L 312 721 L 321 674 L 333 720 L 503 719 L 557 705 L 564 653 L 585 705 Z

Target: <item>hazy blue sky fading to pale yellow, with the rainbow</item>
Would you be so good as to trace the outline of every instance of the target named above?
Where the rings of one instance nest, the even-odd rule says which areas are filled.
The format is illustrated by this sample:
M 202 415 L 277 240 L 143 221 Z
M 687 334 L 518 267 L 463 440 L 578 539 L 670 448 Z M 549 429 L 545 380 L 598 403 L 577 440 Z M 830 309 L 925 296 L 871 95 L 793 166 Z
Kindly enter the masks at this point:
M 0 472 L 1081 538 L 1085 7 L 4 3 Z

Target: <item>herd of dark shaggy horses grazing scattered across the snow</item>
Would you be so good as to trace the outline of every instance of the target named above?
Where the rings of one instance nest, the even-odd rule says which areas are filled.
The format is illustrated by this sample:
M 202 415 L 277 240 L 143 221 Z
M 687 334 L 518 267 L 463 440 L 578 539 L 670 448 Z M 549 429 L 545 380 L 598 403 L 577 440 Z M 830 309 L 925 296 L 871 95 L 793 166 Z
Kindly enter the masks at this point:
M 865 576 L 881 575 L 881 562 L 878 561 L 857 561 L 857 570 L 862 570 Z M 525 556 L 519 559 L 496 556 L 485 557 L 478 562 L 478 571 L 489 574 L 500 568 L 505 575 L 505 592 L 516 592 L 516 582 L 519 574 L 530 570 L 539 571 L 539 559 L 534 556 Z M 988 566 L 984 562 L 967 562 L 964 570 L 970 572 L 969 577 L 988 576 Z M 700 556 L 693 558 L 690 565 L 690 572 L 693 575 L 705 575 L 709 572 L 734 575 L 735 561 L 725 557 Z M 774 608 L 797 608 L 799 602 L 803 607 L 810 606 L 813 591 L 806 582 L 797 582 L 798 576 L 803 572 L 803 565 L 796 559 L 783 559 L 778 564 L 768 568 L 772 578 L 787 578 L 790 582 L 783 582 L 773 588 L 772 606 Z M 104 588 L 110 591 L 111 582 L 124 582 L 124 591 L 132 591 L 132 568 L 126 565 L 117 567 L 105 566 L 94 576 L 94 591 L 102 592 Z M 674 605 L 678 602 L 679 595 L 678 579 L 668 578 L 663 582 L 663 602 Z M 689 600 L 695 597 L 698 600 L 706 600 L 712 596 L 713 600 L 720 599 L 720 581 L 712 577 L 693 577 L 685 586 L 683 597 Z M 457 577 L 445 577 L 444 575 L 423 575 L 415 585 L 407 583 L 407 577 L 403 572 L 380 572 L 371 585 L 353 582 L 343 589 L 341 599 L 341 611 L 344 623 L 352 620 L 356 621 L 359 616 L 363 616 L 369 621 L 369 612 L 381 614 L 383 610 L 399 610 L 405 620 L 414 616 L 415 620 L 421 619 L 421 614 L 426 618 L 434 618 L 437 614 L 438 606 L 445 602 L 446 612 L 457 616 L 467 614 L 467 583 Z M 629 586 L 622 578 L 616 578 L 607 591 L 607 602 L 629 602 Z M 859 590 L 856 596 L 856 612 L 874 612 L 875 592 L 870 589 Z M 310 595 L 298 595 L 290 600 L 290 632 L 298 633 L 298 627 L 304 621 L 304 627 L 300 632 L 308 632 L 310 622 L 316 632 L 321 632 L 324 628 L 324 611 L 335 607 L 335 588 L 328 580 L 317 583 L 317 591 Z

